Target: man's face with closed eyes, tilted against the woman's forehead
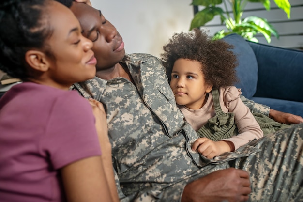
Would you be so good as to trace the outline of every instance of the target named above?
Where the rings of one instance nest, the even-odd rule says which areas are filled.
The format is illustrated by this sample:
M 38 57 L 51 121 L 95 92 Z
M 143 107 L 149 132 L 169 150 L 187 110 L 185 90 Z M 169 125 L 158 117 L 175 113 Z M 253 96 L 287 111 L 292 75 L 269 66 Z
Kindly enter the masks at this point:
M 82 34 L 93 42 L 97 70 L 113 67 L 125 54 L 124 42 L 116 28 L 100 10 L 84 3 L 73 3 L 71 10 L 80 22 Z

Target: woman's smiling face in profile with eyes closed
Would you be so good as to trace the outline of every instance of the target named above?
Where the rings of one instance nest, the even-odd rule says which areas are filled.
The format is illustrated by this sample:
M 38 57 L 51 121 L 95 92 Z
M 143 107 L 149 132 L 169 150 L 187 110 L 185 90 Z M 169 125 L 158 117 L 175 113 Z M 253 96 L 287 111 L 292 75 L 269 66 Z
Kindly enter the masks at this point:
M 54 56 L 49 58 L 49 81 L 55 87 L 66 88 L 93 78 L 96 58 L 91 50 L 92 42 L 82 36 L 80 24 L 72 11 L 54 1 L 48 12 L 53 33 L 46 43 Z

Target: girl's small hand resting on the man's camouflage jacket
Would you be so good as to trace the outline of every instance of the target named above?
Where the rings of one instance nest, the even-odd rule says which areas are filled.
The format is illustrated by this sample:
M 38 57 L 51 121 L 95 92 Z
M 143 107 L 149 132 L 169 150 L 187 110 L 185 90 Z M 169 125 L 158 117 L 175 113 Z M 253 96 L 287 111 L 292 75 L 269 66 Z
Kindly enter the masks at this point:
M 233 146 L 233 143 L 230 142 Z M 230 152 L 233 150 L 231 145 L 226 141 L 212 141 L 208 138 L 198 138 L 192 145 L 192 150 L 204 155 L 205 157 L 211 159 L 215 156 L 221 155 L 224 152 Z

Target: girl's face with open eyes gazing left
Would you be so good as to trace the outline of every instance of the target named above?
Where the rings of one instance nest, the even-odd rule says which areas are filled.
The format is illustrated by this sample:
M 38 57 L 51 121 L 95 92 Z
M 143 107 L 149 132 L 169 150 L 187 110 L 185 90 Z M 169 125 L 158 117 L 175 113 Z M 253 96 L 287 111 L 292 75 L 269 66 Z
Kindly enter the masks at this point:
M 174 63 L 170 87 L 178 105 L 200 109 L 205 104 L 206 93 L 212 86 L 205 83 L 204 74 L 197 61 L 180 58 Z

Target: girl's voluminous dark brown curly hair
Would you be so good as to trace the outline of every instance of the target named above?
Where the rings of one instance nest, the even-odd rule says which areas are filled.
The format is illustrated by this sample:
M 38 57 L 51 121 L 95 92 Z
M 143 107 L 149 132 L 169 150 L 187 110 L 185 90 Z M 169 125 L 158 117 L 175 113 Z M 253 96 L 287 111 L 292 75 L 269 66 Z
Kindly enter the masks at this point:
M 199 62 L 205 82 L 220 88 L 232 86 L 238 81 L 235 70 L 237 57 L 231 48 L 233 46 L 227 42 L 213 40 L 205 31 L 196 28 L 187 33 L 175 33 L 163 47 L 164 53 L 160 57 L 169 72 L 180 58 Z

